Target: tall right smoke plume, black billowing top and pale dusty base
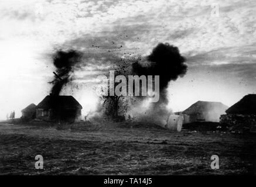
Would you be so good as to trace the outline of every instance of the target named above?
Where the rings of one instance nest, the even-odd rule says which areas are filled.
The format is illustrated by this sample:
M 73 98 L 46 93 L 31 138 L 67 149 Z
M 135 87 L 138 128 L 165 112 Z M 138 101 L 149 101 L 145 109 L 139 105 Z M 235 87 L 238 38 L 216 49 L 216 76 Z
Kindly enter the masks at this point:
M 136 61 L 132 64 L 132 71 L 136 75 L 159 75 L 159 101 L 146 106 L 146 112 L 142 109 L 139 111 L 142 120 L 149 120 L 161 124 L 167 123 L 171 111 L 167 108 L 167 87 L 170 81 L 175 81 L 178 77 L 183 77 L 187 72 L 185 57 L 181 56 L 178 47 L 171 46 L 169 43 L 159 43 L 152 53 L 146 58 L 146 61 L 139 63 Z M 145 100 L 145 97 L 140 97 Z

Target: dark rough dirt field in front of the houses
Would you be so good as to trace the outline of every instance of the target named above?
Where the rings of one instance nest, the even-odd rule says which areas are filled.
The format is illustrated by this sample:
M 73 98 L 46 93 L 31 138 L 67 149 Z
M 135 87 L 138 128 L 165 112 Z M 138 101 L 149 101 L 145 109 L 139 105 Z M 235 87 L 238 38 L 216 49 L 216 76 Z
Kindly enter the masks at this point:
M 255 134 L 172 132 L 120 127 L 57 130 L 0 124 L 0 174 L 241 175 L 255 174 Z M 35 169 L 42 155 L 44 169 Z M 211 169 L 219 155 L 220 169 Z

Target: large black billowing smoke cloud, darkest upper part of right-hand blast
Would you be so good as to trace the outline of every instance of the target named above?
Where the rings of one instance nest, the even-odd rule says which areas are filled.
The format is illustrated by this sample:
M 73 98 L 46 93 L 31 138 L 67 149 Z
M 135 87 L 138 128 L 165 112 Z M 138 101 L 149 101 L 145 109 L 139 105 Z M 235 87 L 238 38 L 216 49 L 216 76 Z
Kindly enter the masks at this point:
M 159 75 L 160 102 L 167 102 L 166 88 L 169 81 L 183 77 L 187 72 L 185 57 L 181 56 L 178 47 L 169 43 L 159 43 L 147 57 L 148 63 L 132 64 L 132 69 L 137 75 Z

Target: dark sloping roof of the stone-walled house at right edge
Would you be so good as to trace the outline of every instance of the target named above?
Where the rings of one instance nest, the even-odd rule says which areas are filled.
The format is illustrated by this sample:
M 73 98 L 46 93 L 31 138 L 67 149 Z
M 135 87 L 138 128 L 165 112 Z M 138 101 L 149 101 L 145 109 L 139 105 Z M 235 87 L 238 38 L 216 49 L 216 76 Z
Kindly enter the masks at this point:
M 245 95 L 226 110 L 227 114 L 256 114 L 256 94 Z

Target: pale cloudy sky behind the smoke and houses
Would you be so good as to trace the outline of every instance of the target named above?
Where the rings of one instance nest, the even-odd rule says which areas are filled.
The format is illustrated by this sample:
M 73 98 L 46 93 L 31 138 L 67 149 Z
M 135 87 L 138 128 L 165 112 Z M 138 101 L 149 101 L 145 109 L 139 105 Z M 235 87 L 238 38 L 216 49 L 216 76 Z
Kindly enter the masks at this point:
M 233 105 L 256 93 L 255 9 L 255 0 L 1 0 L 0 119 L 49 94 L 56 49 L 84 52 L 77 90 L 67 86 L 63 94 L 90 110 L 93 75 L 116 57 L 146 56 L 160 42 L 179 47 L 189 67 L 170 82 L 170 108 L 198 100 Z

